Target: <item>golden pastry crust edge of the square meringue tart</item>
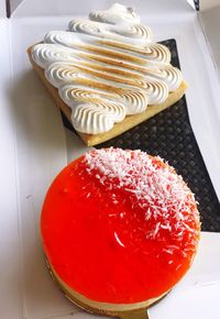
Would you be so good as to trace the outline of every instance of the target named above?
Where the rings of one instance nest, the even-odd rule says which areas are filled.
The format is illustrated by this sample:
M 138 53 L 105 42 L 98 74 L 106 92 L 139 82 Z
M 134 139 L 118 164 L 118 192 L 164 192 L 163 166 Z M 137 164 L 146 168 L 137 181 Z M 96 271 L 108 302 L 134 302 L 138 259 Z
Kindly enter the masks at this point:
M 59 109 L 65 113 L 66 118 L 68 121 L 70 121 L 70 116 L 72 116 L 72 109 L 62 100 L 62 98 L 58 95 L 57 88 L 55 88 L 45 77 L 44 75 L 44 69 L 41 68 L 32 58 L 32 46 L 28 48 L 28 54 L 29 58 L 31 61 L 31 64 L 34 68 L 34 70 L 37 73 L 38 77 L 41 80 L 44 82 L 46 86 L 47 90 L 52 95 L 55 103 L 59 107 Z M 81 140 L 86 143 L 87 146 L 94 146 L 97 144 L 100 144 L 102 142 L 106 142 L 112 138 L 116 138 L 123 132 L 134 128 L 135 125 L 140 124 L 141 122 L 154 117 L 158 112 L 167 109 L 168 107 L 173 106 L 185 94 L 187 89 L 187 84 L 183 80 L 180 86 L 178 87 L 177 90 L 169 92 L 168 98 L 166 99 L 165 102 L 155 105 L 155 106 L 148 106 L 146 110 L 142 113 L 134 114 L 134 116 L 127 116 L 125 119 L 119 123 L 116 123 L 113 128 L 105 133 L 99 133 L 99 134 L 87 134 L 87 133 L 81 133 L 77 131 L 77 134 L 81 138 Z

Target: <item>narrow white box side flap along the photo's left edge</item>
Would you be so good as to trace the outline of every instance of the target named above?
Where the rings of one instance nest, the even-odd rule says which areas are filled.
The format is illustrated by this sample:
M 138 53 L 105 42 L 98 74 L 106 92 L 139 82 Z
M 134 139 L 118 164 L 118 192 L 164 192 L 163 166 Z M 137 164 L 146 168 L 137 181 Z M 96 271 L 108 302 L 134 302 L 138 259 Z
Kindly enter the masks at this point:
M 11 99 L 9 20 L 0 20 L 0 318 L 22 314 L 16 142 Z M 3 63 L 2 63 L 3 62 Z M 13 307 L 12 307 L 13 305 Z

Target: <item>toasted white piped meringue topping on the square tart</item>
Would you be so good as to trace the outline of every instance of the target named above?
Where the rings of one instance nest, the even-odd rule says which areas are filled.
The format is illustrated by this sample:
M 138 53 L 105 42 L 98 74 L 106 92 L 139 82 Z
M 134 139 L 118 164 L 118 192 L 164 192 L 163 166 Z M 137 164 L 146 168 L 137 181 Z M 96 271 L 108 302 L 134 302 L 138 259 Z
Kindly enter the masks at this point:
M 122 4 L 75 19 L 68 31 L 48 32 L 32 57 L 72 108 L 74 128 L 85 133 L 107 132 L 127 114 L 164 102 L 183 80 L 169 50 L 152 42 L 151 29 Z

